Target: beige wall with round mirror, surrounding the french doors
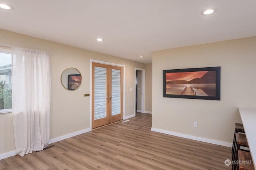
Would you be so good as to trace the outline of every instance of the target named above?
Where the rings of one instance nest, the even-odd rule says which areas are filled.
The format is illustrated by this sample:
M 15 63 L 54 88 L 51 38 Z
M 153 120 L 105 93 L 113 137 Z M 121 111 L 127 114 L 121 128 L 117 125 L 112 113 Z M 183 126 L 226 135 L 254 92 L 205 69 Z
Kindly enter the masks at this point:
M 90 59 L 125 65 L 125 116 L 133 115 L 135 68 L 145 64 L 54 43 L 0 29 L 0 44 L 49 51 L 51 64 L 50 139 L 90 128 Z M 69 67 L 82 74 L 82 84 L 74 91 L 66 90 L 62 72 Z M 130 88 L 133 90 L 130 91 Z M 12 113 L 0 114 L 0 154 L 14 150 Z

